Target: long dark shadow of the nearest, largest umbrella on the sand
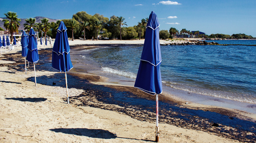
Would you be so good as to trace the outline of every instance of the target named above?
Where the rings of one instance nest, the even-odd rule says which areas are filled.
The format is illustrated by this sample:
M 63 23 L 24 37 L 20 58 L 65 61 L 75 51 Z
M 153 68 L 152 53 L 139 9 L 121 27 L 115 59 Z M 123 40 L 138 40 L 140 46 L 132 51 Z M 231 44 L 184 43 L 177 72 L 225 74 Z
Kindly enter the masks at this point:
M 135 140 L 143 140 L 143 141 L 152 141 L 146 139 L 136 139 L 136 138 L 127 138 L 127 137 L 118 137 L 116 134 L 111 133 L 107 130 L 102 129 L 87 129 L 87 128 L 57 128 L 50 129 L 50 131 L 56 133 L 64 133 L 71 135 L 80 135 L 80 136 L 88 136 L 93 138 L 102 138 L 102 139 L 114 139 L 114 138 L 125 138 L 125 139 L 135 139 Z

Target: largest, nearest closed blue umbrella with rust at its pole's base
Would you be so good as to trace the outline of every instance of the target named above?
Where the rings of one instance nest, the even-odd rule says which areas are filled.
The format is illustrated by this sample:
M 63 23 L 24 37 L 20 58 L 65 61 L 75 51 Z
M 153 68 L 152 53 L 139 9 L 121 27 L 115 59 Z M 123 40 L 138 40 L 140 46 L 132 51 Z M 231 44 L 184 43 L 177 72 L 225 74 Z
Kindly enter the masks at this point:
M 158 128 L 158 94 L 162 93 L 160 72 L 161 51 L 159 42 L 160 24 L 154 11 L 149 15 L 146 26 L 145 41 L 140 58 L 139 70 L 134 87 L 156 95 L 156 142 L 159 140 Z

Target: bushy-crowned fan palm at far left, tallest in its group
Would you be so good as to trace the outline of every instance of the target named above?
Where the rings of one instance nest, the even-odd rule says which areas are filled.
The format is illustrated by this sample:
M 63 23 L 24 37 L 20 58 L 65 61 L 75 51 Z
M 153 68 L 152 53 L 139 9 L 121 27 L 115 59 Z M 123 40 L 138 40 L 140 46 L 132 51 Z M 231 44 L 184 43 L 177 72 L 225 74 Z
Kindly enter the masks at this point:
M 18 18 L 18 15 L 16 12 L 7 12 L 5 13 L 5 16 L 7 19 L 4 19 L 4 27 L 6 30 L 9 30 L 11 33 L 11 42 L 12 42 L 12 37 L 13 37 L 13 32 L 18 32 L 19 29 L 19 21 L 21 21 Z

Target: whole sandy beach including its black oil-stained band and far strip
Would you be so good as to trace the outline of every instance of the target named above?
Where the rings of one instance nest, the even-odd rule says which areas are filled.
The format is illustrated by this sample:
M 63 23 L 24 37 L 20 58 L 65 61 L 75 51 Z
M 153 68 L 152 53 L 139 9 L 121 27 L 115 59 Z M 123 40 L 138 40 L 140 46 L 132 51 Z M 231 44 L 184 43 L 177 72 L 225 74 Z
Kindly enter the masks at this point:
M 160 40 L 160 43 L 172 42 L 184 41 Z M 144 40 L 69 40 L 74 49 L 81 45 L 143 43 Z M 155 104 L 149 106 L 155 103 L 154 97 L 135 87 L 110 84 L 106 77 L 77 73 L 74 67 L 68 73 L 70 104 L 67 104 L 65 75 L 51 68 L 51 46 L 38 45 L 38 48 L 39 62 L 35 64 L 37 87 L 33 65 L 30 64 L 27 74 L 23 70 L 21 46 L 0 56 L 0 142 L 155 141 Z M 135 103 L 128 104 L 125 100 Z M 159 140 L 162 143 L 256 140 L 255 114 L 217 106 L 185 104 L 165 93 L 159 100 Z M 213 126 L 216 124 L 218 127 Z

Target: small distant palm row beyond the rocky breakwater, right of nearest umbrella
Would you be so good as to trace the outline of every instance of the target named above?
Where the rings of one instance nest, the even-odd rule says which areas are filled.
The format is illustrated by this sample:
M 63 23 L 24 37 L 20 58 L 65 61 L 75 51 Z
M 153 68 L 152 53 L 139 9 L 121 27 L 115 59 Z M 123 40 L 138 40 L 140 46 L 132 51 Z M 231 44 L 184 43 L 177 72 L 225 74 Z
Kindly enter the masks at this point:
M 179 32 L 179 30 L 174 27 L 171 27 L 169 29 L 169 33 L 173 38 L 195 38 L 194 36 L 199 35 L 199 31 L 195 31 L 193 33 L 190 30 L 181 29 L 181 31 Z

